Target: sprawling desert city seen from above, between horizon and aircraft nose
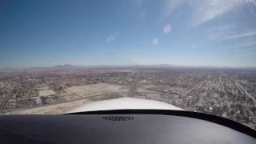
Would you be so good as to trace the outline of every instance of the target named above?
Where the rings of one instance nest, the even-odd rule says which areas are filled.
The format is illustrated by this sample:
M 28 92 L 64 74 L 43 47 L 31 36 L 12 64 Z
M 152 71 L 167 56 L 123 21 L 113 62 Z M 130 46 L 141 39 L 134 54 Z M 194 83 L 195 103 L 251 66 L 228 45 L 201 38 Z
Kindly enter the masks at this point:
M 2 114 L 63 114 L 84 103 L 145 98 L 256 130 L 256 70 L 55 66 L 0 72 Z

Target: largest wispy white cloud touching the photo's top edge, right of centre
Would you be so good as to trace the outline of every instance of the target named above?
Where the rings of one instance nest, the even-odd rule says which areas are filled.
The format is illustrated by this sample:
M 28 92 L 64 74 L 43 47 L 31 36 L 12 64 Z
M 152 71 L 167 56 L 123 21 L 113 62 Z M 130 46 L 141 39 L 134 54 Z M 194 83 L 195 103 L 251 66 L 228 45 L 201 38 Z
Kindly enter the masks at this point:
M 185 6 L 184 4 L 190 5 L 190 26 L 193 27 L 218 18 L 246 2 L 249 2 L 249 0 L 166 0 L 162 11 L 166 18 L 173 14 L 175 10 L 182 9 L 182 6 Z

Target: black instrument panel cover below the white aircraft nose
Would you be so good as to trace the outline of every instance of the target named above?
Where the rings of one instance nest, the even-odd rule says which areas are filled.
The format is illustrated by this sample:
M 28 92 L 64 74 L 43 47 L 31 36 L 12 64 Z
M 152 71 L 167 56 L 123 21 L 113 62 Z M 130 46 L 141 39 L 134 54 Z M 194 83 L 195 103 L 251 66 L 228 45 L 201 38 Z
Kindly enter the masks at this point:
M 243 143 L 255 131 L 209 114 L 178 110 L 103 110 L 62 115 L 2 115 L 0 143 Z

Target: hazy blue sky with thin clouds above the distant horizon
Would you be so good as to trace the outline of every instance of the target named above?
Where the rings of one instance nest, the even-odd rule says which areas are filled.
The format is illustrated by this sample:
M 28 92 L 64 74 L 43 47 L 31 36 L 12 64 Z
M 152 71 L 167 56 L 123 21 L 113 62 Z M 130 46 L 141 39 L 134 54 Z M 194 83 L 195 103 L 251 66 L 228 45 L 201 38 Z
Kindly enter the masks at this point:
M 256 0 L 2 0 L 0 68 L 256 66 Z

